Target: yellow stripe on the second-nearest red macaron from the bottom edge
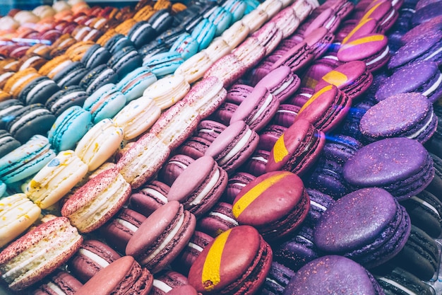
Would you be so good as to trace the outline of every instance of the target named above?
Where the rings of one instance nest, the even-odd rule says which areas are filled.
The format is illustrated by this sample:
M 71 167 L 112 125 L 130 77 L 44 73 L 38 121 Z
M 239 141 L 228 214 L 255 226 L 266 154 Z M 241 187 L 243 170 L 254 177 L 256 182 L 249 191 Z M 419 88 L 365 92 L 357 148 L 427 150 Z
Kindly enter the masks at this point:
M 251 188 L 248 192 L 246 192 L 239 200 L 236 202 L 232 208 L 232 213 L 235 218 L 238 218 L 244 210 L 249 207 L 251 202 L 253 202 L 257 197 L 259 197 L 265 190 L 268 190 L 269 187 L 275 185 L 275 183 L 279 182 L 282 178 L 285 178 L 292 173 L 288 171 L 284 171 L 282 173 L 278 173 L 276 175 L 270 176 L 270 178 L 266 178 L 261 181 L 254 187 Z

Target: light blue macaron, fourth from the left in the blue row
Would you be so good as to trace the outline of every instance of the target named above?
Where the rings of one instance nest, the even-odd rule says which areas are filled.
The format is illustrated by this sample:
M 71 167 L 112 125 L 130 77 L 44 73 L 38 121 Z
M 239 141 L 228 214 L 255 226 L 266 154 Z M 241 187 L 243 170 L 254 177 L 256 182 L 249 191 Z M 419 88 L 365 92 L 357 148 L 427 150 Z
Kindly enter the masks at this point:
M 124 76 L 117 83 L 117 89 L 126 96 L 126 104 L 136 98 L 141 98 L 145 88 L 157 81 L 157 76 L 153 74 L 148 66 L 140 66 Z

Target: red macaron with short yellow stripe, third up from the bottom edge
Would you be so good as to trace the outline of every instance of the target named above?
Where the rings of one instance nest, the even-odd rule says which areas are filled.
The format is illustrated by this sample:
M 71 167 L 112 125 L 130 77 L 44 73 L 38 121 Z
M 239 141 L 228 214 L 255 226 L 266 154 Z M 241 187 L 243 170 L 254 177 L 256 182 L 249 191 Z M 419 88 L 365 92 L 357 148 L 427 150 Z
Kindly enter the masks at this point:
M 277 139 L 270 151 L 265 172 L 287 170 L 302 175 L 318 159 L 325 135 L 307 120 L 296 120 Z

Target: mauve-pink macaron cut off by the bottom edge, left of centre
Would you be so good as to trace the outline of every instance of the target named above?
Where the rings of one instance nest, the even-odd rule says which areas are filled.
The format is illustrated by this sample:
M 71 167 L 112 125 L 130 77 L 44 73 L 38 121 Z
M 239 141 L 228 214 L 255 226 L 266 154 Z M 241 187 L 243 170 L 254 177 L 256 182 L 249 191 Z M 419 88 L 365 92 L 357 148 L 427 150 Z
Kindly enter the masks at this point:
M 153 275 L 131 256 L 124 256 L 97 272 L 76 294 L 112 294 L 116 291 L 148 294 L 153 286 Z

